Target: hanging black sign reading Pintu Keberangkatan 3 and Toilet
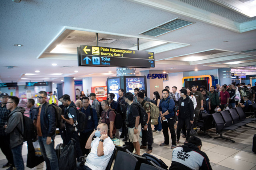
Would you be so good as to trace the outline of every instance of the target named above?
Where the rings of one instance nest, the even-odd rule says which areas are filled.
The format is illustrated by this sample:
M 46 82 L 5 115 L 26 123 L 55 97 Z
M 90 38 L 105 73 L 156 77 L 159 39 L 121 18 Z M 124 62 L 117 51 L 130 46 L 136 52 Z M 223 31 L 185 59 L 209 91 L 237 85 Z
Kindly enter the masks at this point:
M 81 45 L 78 66 L 155 67 L 154 52 Z

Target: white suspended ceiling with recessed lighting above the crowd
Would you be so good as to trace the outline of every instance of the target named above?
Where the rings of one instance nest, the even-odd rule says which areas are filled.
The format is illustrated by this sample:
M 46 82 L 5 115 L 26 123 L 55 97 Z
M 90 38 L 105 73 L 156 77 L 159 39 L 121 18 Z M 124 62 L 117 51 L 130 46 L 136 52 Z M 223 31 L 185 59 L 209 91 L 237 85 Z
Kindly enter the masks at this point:
M 115 76 L 116 68 L 77 66 L 76 47 L 96 45 L 95 33 L 99 33 L 99 39 L 115 39 L 112 43 L 99 43 L 103 47 L 136 49 L 140 38 L 140 50 L 155 52 L 153 70 L 255 68 L 256 18 L 234 10 L 232 4 L 216 1 L 0 1 L 0 81 L 59 83 L 64 76 L 81 79 L 92 74 L 103 76 L 102 73 L 109 71 L 112 74 L 107 76 Z M 237 1 L 230 2 L 236 7 Z M 252 13 L 256 11 L 253 5 L 251 8 Z M 177 18 L 193 24 L 157 37 L 140 35 Z M 58 48 L 61 53 L 52 51 Z M 252 52 L 241 52 L 246 50 Z M 140 70 L 146 69 L 137 68 L 137 73 Z M 25 73 L 35 75 L 25 76 Z

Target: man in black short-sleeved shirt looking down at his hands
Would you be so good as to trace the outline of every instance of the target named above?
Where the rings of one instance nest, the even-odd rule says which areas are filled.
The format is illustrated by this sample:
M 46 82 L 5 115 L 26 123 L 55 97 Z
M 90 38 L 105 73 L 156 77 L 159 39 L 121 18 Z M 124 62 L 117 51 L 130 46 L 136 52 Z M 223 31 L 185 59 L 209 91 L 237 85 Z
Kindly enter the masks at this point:
M 78 136 L 78 110 L 76 109 L 76 104 L 70 100 L 68 94 L 64 94 L 62 97 L 62 103 L 67 107 L 65 115 L 61 115 L 62 119 L 65 121 L 66 127 L 66 141 L 69 142 L 71 138 L 76 140 L 76 158 L 79 159 L 82 156 L 82 150 L 80 148 L 79 136 Z M 67 143 L 65 143 L 67 145 Z

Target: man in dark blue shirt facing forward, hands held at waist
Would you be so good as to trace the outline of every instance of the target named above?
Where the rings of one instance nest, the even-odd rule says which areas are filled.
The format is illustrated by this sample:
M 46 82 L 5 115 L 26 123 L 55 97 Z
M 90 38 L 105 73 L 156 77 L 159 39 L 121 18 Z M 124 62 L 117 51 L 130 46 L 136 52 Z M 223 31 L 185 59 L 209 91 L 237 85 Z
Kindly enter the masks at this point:
M 160 147 L 164 145 L 169 145 L 169 133 L 168 128 L 170 129 L 171 138 L 172 138 L 172 147 L 174 149 L 176 147 L 176 133 L 174 130 L 174 100 L 169 96 L 169 90 L 162 90 L 163 99 L 160 100 L 159 110 L 160 116 L 162 118 L 162 129 L 164 134 L 164 143 L 160 144 Z

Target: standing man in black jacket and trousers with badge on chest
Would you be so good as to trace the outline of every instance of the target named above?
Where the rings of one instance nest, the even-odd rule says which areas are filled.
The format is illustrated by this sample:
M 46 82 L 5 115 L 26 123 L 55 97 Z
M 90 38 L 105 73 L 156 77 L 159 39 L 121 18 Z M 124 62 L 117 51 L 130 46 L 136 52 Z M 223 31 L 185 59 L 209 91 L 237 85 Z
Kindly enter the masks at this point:
M 186 125 L 187 129 L 187 135 L 186 135 L 186 141 L 188 142 L 188 139 L 190 137 L 190 129 L 191 125 L 194 122 L 194 104 L 193 101 L 190 99 L 190 97 L 187 95 L 186 89 L 180 90 L 180 98 L 179 98 L 179 115 L 178 115 L 178 125 L 177 125 L 177 140 L 176 143 L 179 143 L 180 140 L 180 131 L 184 124 Z

